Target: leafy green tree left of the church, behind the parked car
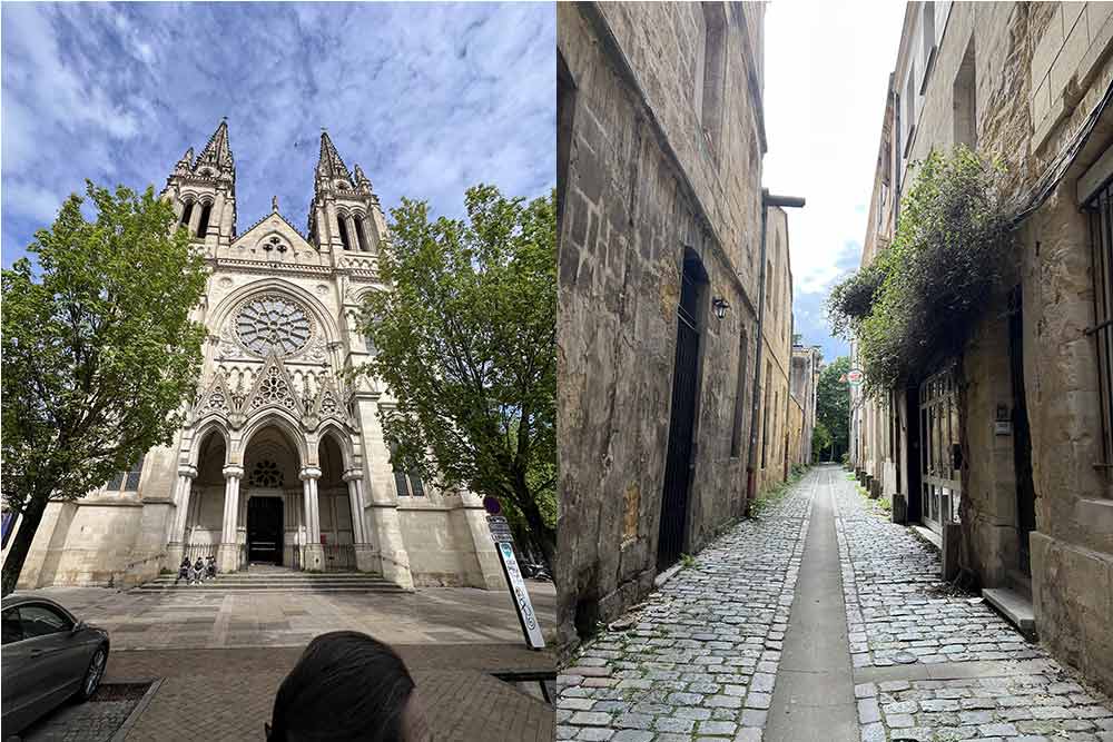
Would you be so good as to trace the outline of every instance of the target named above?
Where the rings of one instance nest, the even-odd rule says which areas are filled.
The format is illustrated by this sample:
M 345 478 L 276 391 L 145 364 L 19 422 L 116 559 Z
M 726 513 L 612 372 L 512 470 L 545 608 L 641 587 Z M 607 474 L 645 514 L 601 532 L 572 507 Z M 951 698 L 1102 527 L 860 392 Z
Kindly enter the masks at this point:
M 3 564 L 10 593 L 49 499 L 77 499 L 170 443 L 200 369 L 190 321 L 204 258 L 154 189 L 87 181 L 27 257 L 3 271 L 4 503 L 22 515 Z

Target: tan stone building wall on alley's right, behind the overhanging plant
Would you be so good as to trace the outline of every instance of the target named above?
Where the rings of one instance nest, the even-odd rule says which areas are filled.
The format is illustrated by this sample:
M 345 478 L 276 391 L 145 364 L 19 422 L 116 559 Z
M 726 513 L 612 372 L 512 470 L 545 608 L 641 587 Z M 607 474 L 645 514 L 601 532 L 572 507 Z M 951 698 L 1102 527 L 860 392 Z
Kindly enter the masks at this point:
M 934 50 L 925 42 L 928 18 Z M 1083 332 L 1095 315 L 1080 191 L 1109 152 L 1113 117 L 1104 111 L 1084 140 L 1080 132 L 1113 81 L 1111 49 L 1110 3 L 910 3 L 890 97 L 914 92 L 915 128 L 907 116 L 899 125 L 890 116 L 895 167 L 879 168 L 877 177 L 888 175 L 905 190 L 909 164 L 964 142 L 1006 165 L 1017 205 L 1038 205 L 1018 226 L 1015 259 L 958 359 L 964 466 L 954 553 L 984 586 L 1031 591 L 1042 641 L 1106 689 L 1113 687 L 1113 492 L 1095 466 L 1109 433 L 1097 416 L 1095 342 Z M 894 108 L 906 115 L 907 95 Z M 1070 167 L 1060 172 L 1060 164 Z M 1058 179 L 1033 200 L 1053 169 Z M 892 229 L 896 199 L 883 207 L 878 182 L 871 215 L 883 209 L 879 222 Z M 917 463 L 907 436 L 918 410 L 903 394 L 892 407 L 902 442 L 895 463 L 907 465 L 899 478 L 884 477 L 885 492 L 915 499 L 908 484 Z M 861 442 L 856 465 L 875 476 L 887 434 L 884 416 L 877 426 L 881 408 L 866 402 L 851 433 Z M 1023 525 L 1026 487 L 1034 499 L 1031 534 Z

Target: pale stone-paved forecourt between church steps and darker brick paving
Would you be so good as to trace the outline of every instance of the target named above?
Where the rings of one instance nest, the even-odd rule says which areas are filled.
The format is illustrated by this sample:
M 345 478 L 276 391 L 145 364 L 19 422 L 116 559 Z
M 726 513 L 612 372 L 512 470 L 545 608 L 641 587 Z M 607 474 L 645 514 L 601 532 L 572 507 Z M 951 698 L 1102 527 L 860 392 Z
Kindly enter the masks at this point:
M 551 631 L 555 587 L 534 580 L 528 585 L 541 625 Z M 509 592 L 471 587 L 426 587 L 403 594 L 160 594 L 109 587 L 33 592 L 107 630 L 114 650 L 305 646 L 317 634 L 343 629 L 390 644 L 522 641 Z

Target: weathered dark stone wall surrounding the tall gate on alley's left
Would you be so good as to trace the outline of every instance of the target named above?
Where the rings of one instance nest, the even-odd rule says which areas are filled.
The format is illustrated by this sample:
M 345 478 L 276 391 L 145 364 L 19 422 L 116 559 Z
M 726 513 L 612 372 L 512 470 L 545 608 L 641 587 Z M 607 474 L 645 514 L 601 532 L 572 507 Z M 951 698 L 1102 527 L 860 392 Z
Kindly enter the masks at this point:
M 686 257 L 705 283 L 684 551 L 745 511 L 762 13 L 720 2 L 556 8 L 562 643 L 639 600 L 658 572 Z M 722 319 L 717 298 L 729 305 Z

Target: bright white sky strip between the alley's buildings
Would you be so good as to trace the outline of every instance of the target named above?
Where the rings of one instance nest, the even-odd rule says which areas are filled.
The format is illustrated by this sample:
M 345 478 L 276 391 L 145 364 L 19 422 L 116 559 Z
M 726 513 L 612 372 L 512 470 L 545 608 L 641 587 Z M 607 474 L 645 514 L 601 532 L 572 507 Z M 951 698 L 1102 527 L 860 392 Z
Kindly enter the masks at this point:
M 816 306 L 860 251 L 900 2 L 770 3 L 766 16 L 765 185 L 807 198 L 789 209 L 797 306 Z M 811 310 L 806 342 L 830 342 Z M 798 316 L 799 319 L 799 316 Z

